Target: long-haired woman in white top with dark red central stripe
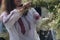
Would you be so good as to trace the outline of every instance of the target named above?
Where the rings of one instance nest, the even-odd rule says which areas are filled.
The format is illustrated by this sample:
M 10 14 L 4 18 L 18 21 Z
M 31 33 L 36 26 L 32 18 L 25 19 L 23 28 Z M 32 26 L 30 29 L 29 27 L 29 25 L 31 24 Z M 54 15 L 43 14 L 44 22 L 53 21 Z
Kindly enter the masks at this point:
M 30 8 L 31 3 L 22 4 L 22 0 L 6 0 L 5 3 L 6 11 L 0 18 L 10 40 L 40 40 L 35 25 L 40 16 L 34 8 Z

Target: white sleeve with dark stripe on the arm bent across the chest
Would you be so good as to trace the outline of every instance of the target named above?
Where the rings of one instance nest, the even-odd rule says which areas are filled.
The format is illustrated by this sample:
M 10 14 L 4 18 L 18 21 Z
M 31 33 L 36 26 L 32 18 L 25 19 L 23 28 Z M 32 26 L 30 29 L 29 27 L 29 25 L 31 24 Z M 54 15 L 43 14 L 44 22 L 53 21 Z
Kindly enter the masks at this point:
M 14 25 L 14 23 L 22 16 L 16 9 L 10 12 L 9 15 L 3 18 L 5 24 Z

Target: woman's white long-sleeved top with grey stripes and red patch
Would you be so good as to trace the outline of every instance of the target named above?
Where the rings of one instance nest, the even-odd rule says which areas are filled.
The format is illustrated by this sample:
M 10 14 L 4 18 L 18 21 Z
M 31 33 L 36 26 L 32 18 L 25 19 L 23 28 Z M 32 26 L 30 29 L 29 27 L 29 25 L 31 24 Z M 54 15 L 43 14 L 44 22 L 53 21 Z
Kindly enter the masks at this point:
M 11 16 L 11 14 L 13 15 Z M 39 14 L 35 11 L 34 8 L 29 9 L 26 16 L 22 16 L 20 13 L 17 12 L 16 9 L 12 10 L 9 15 L 4 15 L 3 21 L 7 21 L 9 19 L 6 23 L 4 23 L 4 25 L 9 32 L 10 40 L 40 40 L 36 32 L 36 22 L 39 17 Z M 21 24 L 19 24 L 18 22 L 19 18 L 21 18 L 25 27 L 25 29 L 23 28 L 25 30 L 24 34 L 22 34 L 21 32 L 22 28 Z

